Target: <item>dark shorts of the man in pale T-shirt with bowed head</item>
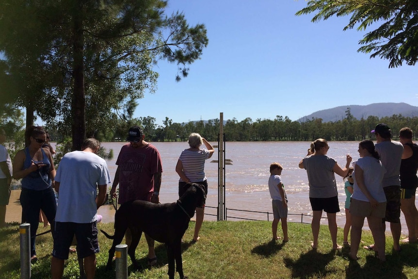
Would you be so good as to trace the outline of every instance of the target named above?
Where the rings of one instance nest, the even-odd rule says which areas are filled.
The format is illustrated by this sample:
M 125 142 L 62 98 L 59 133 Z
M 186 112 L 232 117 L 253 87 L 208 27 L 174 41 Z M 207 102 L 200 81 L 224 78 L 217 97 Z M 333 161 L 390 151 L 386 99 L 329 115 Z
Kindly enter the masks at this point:
M 99 252 L 97 239 L 97 222 L 93 223 L 72 223 L 55 222 L 55 238 L 52 256 L 55 258 L 68 259 L 69 248 L 74 235 L 77 238 L 77 256 L 85 258 Z

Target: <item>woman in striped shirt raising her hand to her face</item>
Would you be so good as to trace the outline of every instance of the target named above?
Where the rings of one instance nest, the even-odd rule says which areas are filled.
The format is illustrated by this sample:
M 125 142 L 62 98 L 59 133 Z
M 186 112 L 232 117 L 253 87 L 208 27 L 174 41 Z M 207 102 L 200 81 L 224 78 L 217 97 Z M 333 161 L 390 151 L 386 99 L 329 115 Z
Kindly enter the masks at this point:
M 205 148 L 200 148 L 202 143 Z M 200 136 L 198 133 L 191 133 L 189 136 L 190 148 L 184 149 L 181 152 L 180 158 L 178 158 L 176 165 L 176 172 L 180 176 L 178 181 L 178 196 L 181 197 L 185 192 L 184 186 L 187 183 L 199 183 L 205 187 L 205 192 L 208 194 L 208 182 L 206 180 L 204 168 L 205 160 L 212 157 L 215 149 L 209 144 L 209 142 Z M 194 227 L 193 241 L 199 240 L 199 230 L 202 227 L 203 215 L 205 208 L 196 208 L 196 225 Z

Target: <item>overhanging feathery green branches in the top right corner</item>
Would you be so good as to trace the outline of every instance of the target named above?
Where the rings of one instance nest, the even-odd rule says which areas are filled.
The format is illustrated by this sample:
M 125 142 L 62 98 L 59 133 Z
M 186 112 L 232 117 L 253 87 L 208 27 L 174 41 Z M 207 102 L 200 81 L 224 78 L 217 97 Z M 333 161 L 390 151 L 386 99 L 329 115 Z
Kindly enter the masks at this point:
M 313 22 L 331 16 L 351 16 L 344 30 L 366 30 L 381 24 L 360 40 L 358 51 L 370 58 L 389 60 L 389 67 L 415 65 L 418 60 L 418 1 L 416 0 L 309 0 L 297 16 L 317 13 Z

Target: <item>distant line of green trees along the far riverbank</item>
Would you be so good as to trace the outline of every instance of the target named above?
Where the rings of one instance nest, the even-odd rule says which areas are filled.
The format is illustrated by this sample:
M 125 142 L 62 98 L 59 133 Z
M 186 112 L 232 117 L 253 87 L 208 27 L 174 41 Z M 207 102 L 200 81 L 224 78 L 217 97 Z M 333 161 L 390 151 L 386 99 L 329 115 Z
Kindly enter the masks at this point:
M 345 111 L 345 118 L 336 122 L 323 122 L 322 118 L 306 119 L 305 121 L 292 121 L 288 116 L 277 115 L 272 119 L 257 118 L 253 121 L 247 117 L 238 121 L 235 117 L 226 120 L 224 126 L 226 141 L 313 141 L 317 138 L 335 141 L 361 141 L 372 138 L 370 131 L 378 123 L 386 123 L 392 130 L 394 139 L 398 139 L 399 130 L 409 127 L 418 131 L 418 117 L 404 117 L 392 115 L 379 118 L 368 116 L 356 119 L 350 108 Z M 128 122 L 119 121 L 118 125 L 108 131 L 100 131 L 96 135 L 101 141 L 124 141 L 127 131 L 132 125 L 143 127 L 145 137 L 149 141 L 187 141 L 189 134 L 198 132 L 209 141 L 217 141 L 219 134 L 219 119 L 209 121 L 191 121 L 176 123 L 168 117 L 162 125 L 156 123 L 151 116 L 133 118 Z M 418 137 L 415 135 L 415 138 Z

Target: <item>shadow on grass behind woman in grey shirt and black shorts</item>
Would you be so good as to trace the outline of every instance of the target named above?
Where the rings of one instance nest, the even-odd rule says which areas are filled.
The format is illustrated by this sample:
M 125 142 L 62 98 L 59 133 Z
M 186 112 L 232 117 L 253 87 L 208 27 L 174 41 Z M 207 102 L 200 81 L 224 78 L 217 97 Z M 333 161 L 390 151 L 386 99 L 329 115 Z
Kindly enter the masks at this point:
M 292 278 L 326 277 L 328 273 L 332 272 L 327 270 L 327 265 L 334 259 L 335 254 L 334 250 L 322 254 L 311 249 L 305 254 L 301 254 L 297 261 L 289 258 L 284 258 L 283 261 L 286 267 L 292 271 Z

